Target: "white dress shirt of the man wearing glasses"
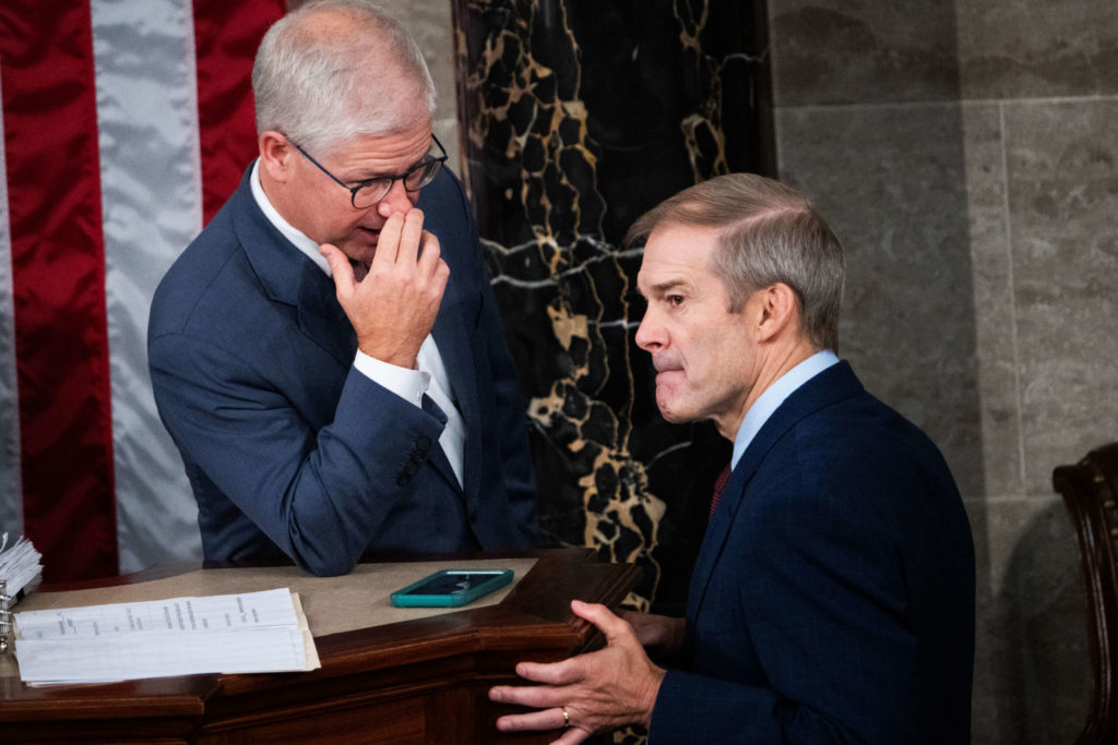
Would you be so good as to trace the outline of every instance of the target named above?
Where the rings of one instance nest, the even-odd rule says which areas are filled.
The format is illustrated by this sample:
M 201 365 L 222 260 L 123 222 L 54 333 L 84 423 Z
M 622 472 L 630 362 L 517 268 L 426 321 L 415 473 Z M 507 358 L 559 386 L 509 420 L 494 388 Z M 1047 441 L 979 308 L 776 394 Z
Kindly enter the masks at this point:
M 284 238 L 294 243 L 295 248 L 314 261 L 328 277 L 331 276 L 330 265 L 326 264 L 325 257 L 319 252 L 319 245 L 284 220 L 268 201 L 264 188 L 260 187 L 259 168 L 260 162 L 257 159 L 253 164 L 249 182 L 253 188 L 253 198 L 260 211 L 264 212 L 264 217 L 283 233 Z M 435 340 L 432 338 L 430 334 L 427 334 L 427 338 L 419 347 L 416 370 L 382 362 L 370 357 L 360 350 L 353 360 L 353 366 L 373 382 L 387 388 L 401 399 L 410 401 L 414 405 L 423 407 L 424 393 L 438 404 L 443 413 L 446 414 L 446 426 L 438 438 L 438 443 L 446 453 L 446 459 L 451 461 L 451 468 L 454 469 L 454 475 L 458 478 L 458 485 L 462 486 L 462 464 L 466 441 L 465 423 L 462 421 L 462 413 L 449 395 L 451 379 L 447 375 L 446 365 L 443 364 L 443 356 L 438 353 L 438 347 L 435 346 Z

